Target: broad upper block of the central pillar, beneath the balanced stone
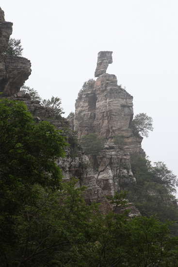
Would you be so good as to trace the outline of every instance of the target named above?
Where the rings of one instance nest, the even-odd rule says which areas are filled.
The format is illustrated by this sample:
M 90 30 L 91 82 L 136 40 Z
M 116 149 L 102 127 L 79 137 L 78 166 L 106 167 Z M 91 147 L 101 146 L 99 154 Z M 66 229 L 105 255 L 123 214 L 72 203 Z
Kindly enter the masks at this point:
M 133 97 L 117 85 L 113 74 L 102 74 L 94 88 L 80 91 L 75 104 L 74 130 L 82 135 L 96 133 L 113 146 L 114 136 L 124 138 L 124 151 L 143 154 L 142 137 L 135 136 L 130 127 L 133 118 Z

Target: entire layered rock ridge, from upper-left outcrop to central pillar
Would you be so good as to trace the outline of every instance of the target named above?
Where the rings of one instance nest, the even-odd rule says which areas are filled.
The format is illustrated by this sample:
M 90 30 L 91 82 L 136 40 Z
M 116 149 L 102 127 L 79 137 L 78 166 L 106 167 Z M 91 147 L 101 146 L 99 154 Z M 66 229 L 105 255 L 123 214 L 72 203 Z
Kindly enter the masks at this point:
M 86 156 L 77 144 L 65 118 L 56 119 L 52 109 L 43 107 L 39 101 L 31 100 L 19 92 L 20 87 L 31 74 L 31 63 L 24 57 L 4 54 L 12 33 L 12 25 L 11 22 L 4 20 L 4 13 L 0 9 L 1 97 L 24 101 L 37 123 L 41 120 L 48 120 L 57 129 L 64 131 L 71 145 L 66 149 L 66 158 L 58 159 L 64 181 L 72 177 L 78 178 L 78 186 L 84 185 L 87 188 L 86 201 L 88 203 L 100 202 L 101 211 L 107 213 L 113 209 L 107 196 L 113 196 L 115 191 L 120 190 L 122 183 L 135 181 L 131 172 L 129 152 L 142 152 L 142 138 L 134 137 L 129 128 L 133 115 L 132 97 L 117 85 L 115 75 L 106 74 L 108 64 L 112 63 L 112 52 L 98 53 L 95 73 L 98 76 L 97 81 L 93 88 L 79 93 L 75 115 L 70 118 L 72 130 L 77 131 L 79 140 L 82 135 L 88 133 L 106 137 L 105 149 L 97 156 L 96 169 L 93 166 L 92 157 Z M 120 133 L 125 135 L 124 150 L 118 149 L 113 144 L 113 135 Z M 129 216 L 139 215 L 139 211 L 132 204 L 129 207 L 131 208 Z

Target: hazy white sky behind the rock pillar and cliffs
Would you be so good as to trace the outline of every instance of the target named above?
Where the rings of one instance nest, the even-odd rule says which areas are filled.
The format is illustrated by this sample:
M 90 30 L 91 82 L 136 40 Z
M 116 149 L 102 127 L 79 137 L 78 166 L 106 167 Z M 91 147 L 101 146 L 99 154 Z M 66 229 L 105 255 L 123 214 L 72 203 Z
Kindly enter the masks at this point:
M 178 175 L 178 0 L 1 0 L 12 37 L 32 62 L 26 85 L 62 99 L 65 116 L 97 52 L 113 51 L 108 73 L 134 98 L 134 113 L 153 117 L 143 141 L 152 162 Z

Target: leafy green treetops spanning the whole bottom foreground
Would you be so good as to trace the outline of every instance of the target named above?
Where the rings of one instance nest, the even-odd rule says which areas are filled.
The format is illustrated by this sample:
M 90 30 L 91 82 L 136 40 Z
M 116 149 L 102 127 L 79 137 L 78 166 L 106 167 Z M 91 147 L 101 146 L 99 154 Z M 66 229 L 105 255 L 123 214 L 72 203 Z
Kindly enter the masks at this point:
M 63 183 L 60 191 L 33 185 L 33 201 L 15 217 L 14 242 L 0 247 L 2 267 L 177 266 L 178 238 L 168 224 L 154 217 L 129 220 L 127 211 L 103 216 L 97 205 L 86 205 L 76 182 Z M 123 197 L 111 201 L 123 205 Z

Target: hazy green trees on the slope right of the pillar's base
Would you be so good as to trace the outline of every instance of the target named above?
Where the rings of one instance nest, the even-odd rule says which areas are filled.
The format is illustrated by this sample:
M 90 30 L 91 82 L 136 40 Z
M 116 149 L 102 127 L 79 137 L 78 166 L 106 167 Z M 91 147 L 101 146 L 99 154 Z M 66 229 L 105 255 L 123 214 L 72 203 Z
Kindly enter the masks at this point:
M 129 201 L 134 202 L 143 216 L 155 215 L 160 220 L 178 221 L 178 204 L 175 196 L 176 176 L 162 162 L 151 166 L 139 156 L 132 156 L 131 167 L 136 184 L 125 184 Z M 174 233 L 178 225 L 174 226 Z

